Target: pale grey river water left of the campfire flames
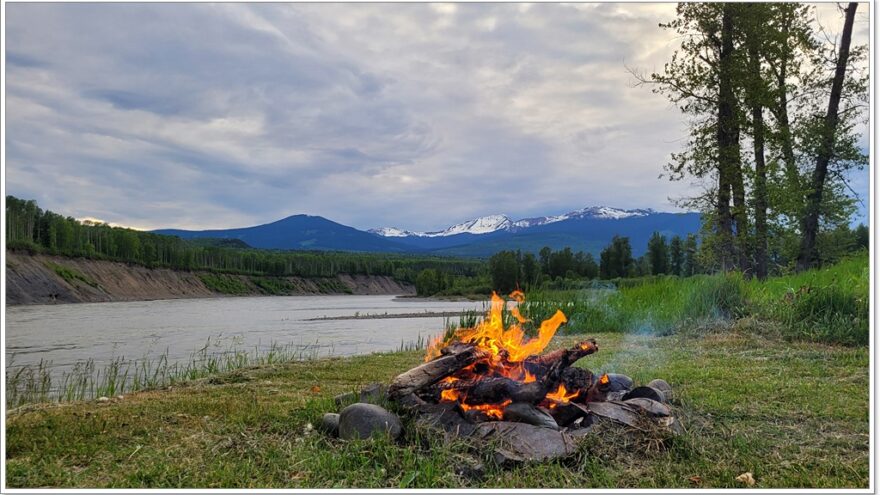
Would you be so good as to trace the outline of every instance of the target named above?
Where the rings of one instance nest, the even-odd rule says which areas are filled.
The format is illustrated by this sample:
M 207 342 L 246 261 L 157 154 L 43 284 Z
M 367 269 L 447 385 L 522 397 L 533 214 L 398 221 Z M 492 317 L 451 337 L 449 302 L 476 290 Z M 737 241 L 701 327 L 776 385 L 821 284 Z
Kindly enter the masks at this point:
M 304 357 L 396 350 L 444 330 L 444 317 L 327 319 L 484 310 L 479 302 L 395 296 L 269 296 L 10 306 L 6 308 L 7 369 L 41 361 L 52 375 L 78 362 L 96 369 L 115 359 L 186 363 L 210 353 L 266 352 L 273 345 Z M 453 321 L 457 322 L 458 318 Z

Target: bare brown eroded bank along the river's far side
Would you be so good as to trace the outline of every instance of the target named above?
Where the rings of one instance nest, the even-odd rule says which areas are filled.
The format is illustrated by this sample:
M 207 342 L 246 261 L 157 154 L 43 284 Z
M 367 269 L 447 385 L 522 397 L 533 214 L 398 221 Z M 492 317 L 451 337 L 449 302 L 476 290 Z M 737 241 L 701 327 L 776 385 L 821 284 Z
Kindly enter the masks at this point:
M 252 277 L 114 261 L 6 253 L 6 304 L 150 301 L 228 295 L 410 295 L 391 277 Z

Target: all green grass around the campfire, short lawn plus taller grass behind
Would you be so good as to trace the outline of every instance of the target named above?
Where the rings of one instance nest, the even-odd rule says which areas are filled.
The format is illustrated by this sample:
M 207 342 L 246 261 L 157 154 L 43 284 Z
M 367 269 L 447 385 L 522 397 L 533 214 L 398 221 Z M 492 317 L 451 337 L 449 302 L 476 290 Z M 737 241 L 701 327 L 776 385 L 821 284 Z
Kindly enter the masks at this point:
M 336 409 L 333 396 L 390 381 L 422 351 L 287 362 L 254 356 L 171 373 L 164 388 L 123 399 L 9 411 L 6 483 L 734 488 L 751 472 L 760 488 L 866 488 L 868 284 L 863 255 L 766 282 L 715 275 L 533 294 L 526 314 L 540 320 L 561 308 L 569 316 L 551 346 L 598 340 L 600 352 L 580 365 L 672 384 L 686 429 L 673 438 L 599 429 L 571 458 L 513 468 L 494 465 L 485 448 L 447 443 L 409 423 L 398 443 L 343 442 L 311 427 Z M 474 315 L 464 319 L 473 324 Z M 477 461 L 481 476 L 459 474 Z

